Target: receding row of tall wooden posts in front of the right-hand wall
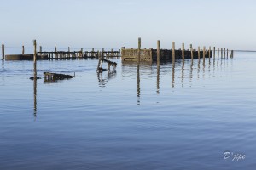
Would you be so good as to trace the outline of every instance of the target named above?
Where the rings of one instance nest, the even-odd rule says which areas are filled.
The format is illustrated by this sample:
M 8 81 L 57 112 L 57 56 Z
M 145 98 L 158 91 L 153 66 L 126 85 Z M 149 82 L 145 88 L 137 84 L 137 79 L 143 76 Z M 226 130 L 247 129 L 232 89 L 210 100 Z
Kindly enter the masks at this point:
M 141 38 L 139 37 L 138 38 L 138 56 L 137 56 L 137 62 L 138 63 L 140 63 L 140 54 L 141 54 Z M 183 61 L 184 61 L 184 59 L 185 59 L 185 53 L 184 53 L 184 51 L 185 51 L 185 45 L 184 45 L 184 43 L 182 43 L 182 59 L 183 59 Z M 194 59 L 194 52 L 195 52 L 195 49 L 193 48 L 193 46 L 192 46 L 192 44 L 190 44 L 190 49 L 189 49 L 190 51 L 191 51 L 191 60 L 193 61 L 193 59 Z M 206 56 L 206 47 L 204 46 L 203 47 L 203 61 L 205 61 L 205 56 Z M 216 51 L 217 51 L 217 57 L 219 58 L 219 52 L 221 52 L 221 59 L 222 58 L 228 58 L 229 57 L 229 49 L 226 49 L 226 48 L 217 48 L 217 50 L 216 50 L 216 48 L 215 47 L 213 47 L 213 59 L 215 59 L 215 53 L 216 53 Z M 197 49 L 197 52 L 198 52 L 198 59 L 201 59 L 201 48 L 200 47 L 198 47 L 198 49 Z M 211 46 L 209 47 L 209 50 L 208 50 L 208 56 L 209 56 L 209 59 L 211 59 L 211 56 L 212 56 L 212 49 L 211 49 Z M 230 58 L 233 58 L 233 56 L 234 56 L 234 51 L 233 50 L 231 50 L 231 53 L 230 53 Z M 160 40 L 158 40 L 157 41 L 157 63 L 159 63 L 160 62 Z M 174 63 L 175 62 L 175 42 L 172 42 L 172 62 Z

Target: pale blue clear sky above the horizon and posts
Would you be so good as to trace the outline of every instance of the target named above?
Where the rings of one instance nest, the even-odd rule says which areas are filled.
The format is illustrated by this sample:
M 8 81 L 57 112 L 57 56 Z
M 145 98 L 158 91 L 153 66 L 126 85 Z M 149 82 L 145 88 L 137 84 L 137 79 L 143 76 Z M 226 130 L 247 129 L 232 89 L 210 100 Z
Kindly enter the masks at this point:
M 256 50 L 255 0 L 1 0 L 0 43 Z

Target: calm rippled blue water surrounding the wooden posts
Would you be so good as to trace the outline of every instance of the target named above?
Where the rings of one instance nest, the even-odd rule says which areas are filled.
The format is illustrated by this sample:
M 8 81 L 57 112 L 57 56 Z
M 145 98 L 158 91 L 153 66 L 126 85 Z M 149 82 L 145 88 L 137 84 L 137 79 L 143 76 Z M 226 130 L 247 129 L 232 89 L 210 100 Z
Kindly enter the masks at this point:
M 38 61 L 38 77 L 76 74 L 51 83 L 29 79 L 31 61 L 1 63 L 0 169 L 256 168 L 256 53 L 113 60 L 110 74 L 96 60 Z

